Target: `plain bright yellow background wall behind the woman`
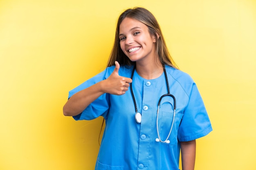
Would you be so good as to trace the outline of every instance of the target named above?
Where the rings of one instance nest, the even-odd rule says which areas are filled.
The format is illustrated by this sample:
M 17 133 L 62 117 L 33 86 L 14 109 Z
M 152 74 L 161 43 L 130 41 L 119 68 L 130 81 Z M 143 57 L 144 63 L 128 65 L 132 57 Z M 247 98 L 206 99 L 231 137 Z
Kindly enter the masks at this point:
M 195 170 L 256 169 L 255 0 L 0 0 L 0 170 L 92 170 L 102 118 L 68 91 L 106 67 L 119 14 L 146 7 L 204 99 Z

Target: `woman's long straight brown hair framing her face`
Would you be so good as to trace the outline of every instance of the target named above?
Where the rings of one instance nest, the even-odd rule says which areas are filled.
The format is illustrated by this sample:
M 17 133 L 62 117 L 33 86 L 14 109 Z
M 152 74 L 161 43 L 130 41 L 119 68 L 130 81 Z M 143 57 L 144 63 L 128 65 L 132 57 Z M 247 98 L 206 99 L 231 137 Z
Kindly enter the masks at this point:
M 156 37 L 156 48 L 155 53 L 158 54 L 159 60 L 162 65 L 170 65 L 174 68 L 177 68 L 177 65 L 173 61 L 170 53 L 168 52 L 166 43 L 164 41 L 164 37 L 162 35 L 162 31 L 160 26 L 150 11 L 145 8 L 135 7 L 133 9 L 126 9 L 117 21 L 117 28 L 115 34 L 115 42 L 112 48 L 112 52 L 110 53 L 110 57 L 108 59 L 107 67 L 115 65 L 115 61 L 118 61 L 120 65 L 134 65 L 134 61 L 130 61 L 130 59 L 124 54 L 120 47 L 120 40 L 119 40 L 119 26 L 124 18 L 129 17 L 135 19 L 148 27 L 148 31 L 150 35 Z M 159 38 L 157 39 L 157 37 Z

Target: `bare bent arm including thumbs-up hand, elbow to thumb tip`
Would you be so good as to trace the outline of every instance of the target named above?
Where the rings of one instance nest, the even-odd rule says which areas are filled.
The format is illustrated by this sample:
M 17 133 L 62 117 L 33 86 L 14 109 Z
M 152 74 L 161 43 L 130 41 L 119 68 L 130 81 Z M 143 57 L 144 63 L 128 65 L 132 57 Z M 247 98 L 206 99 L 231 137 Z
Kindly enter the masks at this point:
M 104 93 L 115 95 L 125 94 L 128 87 L 130 87 L 130 83 L 132 83 L 132 79 L 119 76 L 119 68 L 120 65 L 116 62 L 115 70 L 106 80 L 100 81 L 71 96 L 63 107 L 63 114 L 65 116 L 79 115 L 90 103 Z

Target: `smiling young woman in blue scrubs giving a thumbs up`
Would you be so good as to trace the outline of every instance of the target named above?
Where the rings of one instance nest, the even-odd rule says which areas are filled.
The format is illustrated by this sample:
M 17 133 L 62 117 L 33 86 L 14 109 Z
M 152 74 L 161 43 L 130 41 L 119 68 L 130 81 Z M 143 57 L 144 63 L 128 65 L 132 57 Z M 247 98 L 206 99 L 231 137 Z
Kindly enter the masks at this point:
M 65 116 L 106 128 L 95 170 L 193 170 L 195 139 L 212 131 L 192 78 L 178 70 L 157 20 L 144 8 L 117 22 L 108 67 L 69 93 Z

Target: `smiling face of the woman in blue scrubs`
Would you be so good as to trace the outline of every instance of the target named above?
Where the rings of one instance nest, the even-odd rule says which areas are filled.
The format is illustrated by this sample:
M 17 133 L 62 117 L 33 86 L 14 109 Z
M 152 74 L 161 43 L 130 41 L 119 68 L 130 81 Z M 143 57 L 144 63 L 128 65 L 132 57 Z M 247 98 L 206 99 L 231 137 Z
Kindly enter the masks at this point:
M 120 46 L 131 61 L 154 61 L 155 37 L 138 20 L 126 17 L 119 26 Z

